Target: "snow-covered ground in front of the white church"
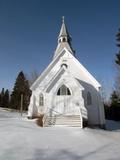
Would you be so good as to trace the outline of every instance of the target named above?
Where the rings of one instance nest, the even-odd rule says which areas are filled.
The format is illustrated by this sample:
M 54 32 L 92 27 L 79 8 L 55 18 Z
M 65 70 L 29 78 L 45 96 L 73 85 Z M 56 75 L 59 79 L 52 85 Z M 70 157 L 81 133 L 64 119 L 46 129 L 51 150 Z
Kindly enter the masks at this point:
M 120 123 L 107 128 L 40 128 L 0 108 L 0 160 L 120 160 Z

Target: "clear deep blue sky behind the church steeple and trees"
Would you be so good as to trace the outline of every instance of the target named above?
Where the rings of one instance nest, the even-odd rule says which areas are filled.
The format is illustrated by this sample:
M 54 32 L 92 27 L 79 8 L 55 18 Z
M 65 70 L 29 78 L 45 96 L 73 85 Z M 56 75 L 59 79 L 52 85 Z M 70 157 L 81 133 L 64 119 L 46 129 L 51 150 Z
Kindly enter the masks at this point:
M 0 0 L 0 89 L 23 70 L 41 72 L 57 46 L 65 16 L 79 61 L 109 94 L 116 67 L 119 0 Z

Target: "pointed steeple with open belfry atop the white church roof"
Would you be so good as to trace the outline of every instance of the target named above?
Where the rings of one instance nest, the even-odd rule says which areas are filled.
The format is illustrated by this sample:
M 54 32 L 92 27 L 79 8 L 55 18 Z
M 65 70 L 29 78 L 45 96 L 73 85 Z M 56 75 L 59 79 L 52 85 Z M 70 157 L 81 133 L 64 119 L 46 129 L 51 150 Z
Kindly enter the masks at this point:
M 61 50 L 63 48 L 67 48 L 71 52 L 71 54 L 74 55 L 74 50 L 72 49 L 72 46 L 71 46 L 71 40 L 72 39 L 68 33 L 68 30 L 67 30 L 67 27 L 65 24 L 65 18 L 63 16 L 62 17 L 62 26 L 61 26 L 60 33 L 58 36 L 58 45 L 57 45 L 56 51 L 54 53 L 54 57 L 56 57 L 61 52 Z

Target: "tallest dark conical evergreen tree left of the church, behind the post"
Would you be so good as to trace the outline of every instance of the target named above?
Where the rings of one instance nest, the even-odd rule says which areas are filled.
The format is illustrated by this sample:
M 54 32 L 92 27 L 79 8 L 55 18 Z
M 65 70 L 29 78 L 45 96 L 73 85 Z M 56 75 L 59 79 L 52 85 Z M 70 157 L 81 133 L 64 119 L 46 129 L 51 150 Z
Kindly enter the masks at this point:
M 21 71 L 16 79 L 13 92 L 11 94 L 10 107 L 20 110 L 21 95 L 23 95 L 23 110 L 28 109 L 31 91 L 29 89 L 28 80 Z

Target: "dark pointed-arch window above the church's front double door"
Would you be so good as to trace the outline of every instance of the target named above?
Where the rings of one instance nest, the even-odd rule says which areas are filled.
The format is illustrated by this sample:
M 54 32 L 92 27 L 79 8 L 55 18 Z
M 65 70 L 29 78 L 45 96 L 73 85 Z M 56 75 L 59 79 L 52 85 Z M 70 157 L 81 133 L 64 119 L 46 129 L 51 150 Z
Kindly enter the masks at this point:
M 57 92 L 57 95 L 71 95 L 69 88 L 67 88 L 65 85 L 62 85 Z

